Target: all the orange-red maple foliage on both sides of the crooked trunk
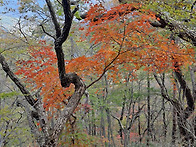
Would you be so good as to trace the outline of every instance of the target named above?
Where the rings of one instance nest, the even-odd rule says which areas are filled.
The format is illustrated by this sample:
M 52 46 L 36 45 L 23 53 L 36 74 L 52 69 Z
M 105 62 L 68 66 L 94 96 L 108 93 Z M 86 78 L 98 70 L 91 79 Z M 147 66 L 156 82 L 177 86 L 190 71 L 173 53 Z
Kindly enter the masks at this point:
M 194 62 L 194 50 L 188 45 L 180 47 L 169 39 L 170 36 L 153 28 L 149 20 L 155 20 L 150 11 L 137 11 L 137 4 L 124 4 L 107 10 L 101 4 L 88 11 L 87 18 L 80 28 L 82 39 L 90 37 L 91 43 L 101 43 L 94 55 L 66 60 L 66 71 L 76 72 L 81 77 L 92 79 L 108 72 L 108 78 L 116 79 L 123 70 L 149 70 L 163 72 L 180 65 Z M 52 46 L 40 41 L 38 46 L 29 48 L 29 59 L 19 60 L 18 75 L 23 75 L 29 87 L 34 90 L 42 87 L 41 95 L 45 106 L 63 107 L 73 92 L 73 87 L 60 86 L 56 55 Z M 123 69 L 123 70 L 122 70 Z M 90 82 L 90 81 L 87 81 Z M 118 82 L 118 81 L 117 81 Z

